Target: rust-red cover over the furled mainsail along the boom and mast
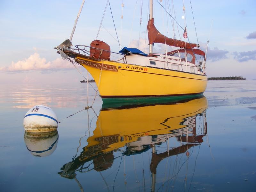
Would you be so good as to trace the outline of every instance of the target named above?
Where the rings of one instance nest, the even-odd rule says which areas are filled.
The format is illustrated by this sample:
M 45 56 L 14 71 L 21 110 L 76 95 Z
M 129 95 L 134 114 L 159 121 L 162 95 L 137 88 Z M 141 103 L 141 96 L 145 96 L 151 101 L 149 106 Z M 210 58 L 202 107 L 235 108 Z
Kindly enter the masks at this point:
M 149 44 L 163 43 L 163 44 L 167 44 L 175 47 L 182 47 L 182 48 L 187 47 L 187 49 L 191 49 L 197 46 L 197 44 L 190 44 L 190 43 L 186 43 L 185 41 L 180 41 L 177 39 L 171 39 L 171 38 L 165 37 L 156 29 L 154 25 L 154 18 L 152 18 L 151 20 L 148 20 L 147 28 L 148 28 Z

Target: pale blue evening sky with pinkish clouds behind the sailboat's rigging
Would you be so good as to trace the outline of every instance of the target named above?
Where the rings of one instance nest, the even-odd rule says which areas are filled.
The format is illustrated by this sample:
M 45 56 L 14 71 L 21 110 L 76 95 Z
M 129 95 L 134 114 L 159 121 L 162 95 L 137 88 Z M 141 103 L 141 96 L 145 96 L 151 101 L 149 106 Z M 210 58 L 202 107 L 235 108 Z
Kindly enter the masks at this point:
M 62 60 L 53 49 L 70 37 L 81 3 L 82 0 L 1 0 L 0 84 L 63 84 L 84 80 L 72 63 Z M 148 53 L 148 1 L 109 0 L 116 31 L 109 5 L 102 20 L 106 3 L 107 0 L 85 0 L 72 44 L 90 45 L 99 31 L 97 39 L 108 43 L 111 51 L 118 52 L 127 46 Z M 182 28 L 187 26 L 191 43 L 198 42 L 205 51 L 209 40 L 208 77 L 256 78 L 256 1 L 191 0 L 195 25 L 190 0 L 184 0 L 184 5 L 185 14 L 182 0 L 154 0 L 156 28 L 165 36 L 182 37 L 183 29 L 176 23 L 172 25 L 171 14 Z M 164 53 L 165 49 L 174 48 L 155 44 L 153 52 Z M 87 76 L 84 68 L 76 67 Z

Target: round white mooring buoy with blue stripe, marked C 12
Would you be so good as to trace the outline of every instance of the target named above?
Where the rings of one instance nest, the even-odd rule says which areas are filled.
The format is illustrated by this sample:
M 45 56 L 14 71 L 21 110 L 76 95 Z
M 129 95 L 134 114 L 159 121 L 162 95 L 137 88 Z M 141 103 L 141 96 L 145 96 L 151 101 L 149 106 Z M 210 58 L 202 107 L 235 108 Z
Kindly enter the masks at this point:
M 26 113 L 23 126 L 26 132 L 51 132 L 57 130 L 58 119 L 51 108 L 36 105 Z

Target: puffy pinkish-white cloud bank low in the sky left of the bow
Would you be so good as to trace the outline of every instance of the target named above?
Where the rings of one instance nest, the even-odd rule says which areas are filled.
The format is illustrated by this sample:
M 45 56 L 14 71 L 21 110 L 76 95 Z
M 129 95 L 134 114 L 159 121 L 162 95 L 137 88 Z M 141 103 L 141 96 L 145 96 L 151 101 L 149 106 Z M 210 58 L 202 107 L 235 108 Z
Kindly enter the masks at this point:
M 61 70 L 61 69 L 73 69 L 73 65 L 68 60 L 57 58 L 53 61 L 46 61 L 45 58 L 41 58 L 38 53 L 30 55 L 25 60 L 19 60 L 9 67 L 1 67 L 2 71 L 31 71 L 31 70 Z

